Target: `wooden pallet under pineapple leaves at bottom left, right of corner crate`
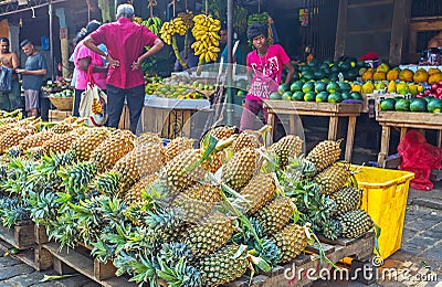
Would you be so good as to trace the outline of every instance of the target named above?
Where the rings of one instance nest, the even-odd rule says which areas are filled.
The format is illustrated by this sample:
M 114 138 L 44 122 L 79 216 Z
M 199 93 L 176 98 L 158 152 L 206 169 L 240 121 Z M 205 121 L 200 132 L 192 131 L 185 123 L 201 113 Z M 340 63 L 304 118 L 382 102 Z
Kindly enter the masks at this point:
M 112 262 L 106 264 L 91 257 L 91 249 L 78 245 L 74 249 L 60 251 L 60 244 L 50 242 L 42 246 L 53 256 L 54 270 L 60 274 L 81 273 L 102 286 L 136 286 L 125 277 L 115 277 L 116 268 Z

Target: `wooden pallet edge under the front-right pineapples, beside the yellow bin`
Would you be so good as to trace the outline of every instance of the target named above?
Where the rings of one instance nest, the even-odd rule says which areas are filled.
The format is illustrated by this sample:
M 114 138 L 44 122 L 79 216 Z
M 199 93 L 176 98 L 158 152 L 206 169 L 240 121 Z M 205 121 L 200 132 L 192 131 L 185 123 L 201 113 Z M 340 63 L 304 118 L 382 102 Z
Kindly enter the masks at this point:
M 347 240 L 338 238 L 337 241 L 326 240 L 320 237 L 323 249 L 334 264 L 337 264 L 345 257 L 354 257 L 361 262 L 367 262 L 373 256 L 373 232 L 368 232 L 358 238 Z M 267 274 L 262 274 L 253 277 L 250 286 L 254 287 L 285 287 L 285 286 L 306 286 L 312 284 L 313 277 L 319 277 L 317 274 L 320 268 L 318 245 L 307 246 L 305 254 L 298 255 L 292 263 L 283 266 L 276 266 Z M 327 265 L 323 266 L 324 268 Z M 299 277 L 294 276 L 293 280 L 287 279 L 287 270 L 299 272 Z M 307 270 L 316 270 L 316 274 L 306 276 Z M 288 273 L 290 274 L 290 273 Z M 298 278 L 296 278 L 298 277 Z M 250 284 L 250 277 L 242 276 L 235 281 L 228 284 L 228 287 L 245 287 Z

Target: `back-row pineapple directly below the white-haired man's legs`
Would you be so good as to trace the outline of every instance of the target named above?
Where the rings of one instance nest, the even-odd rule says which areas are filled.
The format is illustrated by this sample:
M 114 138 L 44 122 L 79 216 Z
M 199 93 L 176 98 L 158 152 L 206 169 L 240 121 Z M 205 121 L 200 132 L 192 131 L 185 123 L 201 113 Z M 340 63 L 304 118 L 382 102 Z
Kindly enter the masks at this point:
M 91 162 L 98 172 L 109 170 L 115 162 L 134 149 L 134 134 L 129 130 L 116 129 L 91 153 Z

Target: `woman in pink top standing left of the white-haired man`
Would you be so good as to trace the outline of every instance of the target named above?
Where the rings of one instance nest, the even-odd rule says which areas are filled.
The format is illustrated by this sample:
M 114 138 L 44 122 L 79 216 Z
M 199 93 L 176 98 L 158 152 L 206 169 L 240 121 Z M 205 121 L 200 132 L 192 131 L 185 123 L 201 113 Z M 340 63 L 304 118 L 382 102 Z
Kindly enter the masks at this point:
M 95 84 L 103 91 L 106 91 L 106 76 L 107 76 L 107 67 L 104 66 L 104 61 L 101 55 L 91 51 L 84 45 L 84 39 L 97 30 L 101 23 L 98 21 L 91 21 L 86 25 L 85 32 L 80 32 L 77 38 L 77 45 L 74 50 L 74 64 L 76 74 L 75 81 L 75 102 L 74 102 L 74 110 L 73 115 L 80 116 L 80 102 L 82 99 L 82 93 L 87 87 L 87 78 L 88 78 L 88 70 L 92 66 L 92 76 L 94 78 Z

